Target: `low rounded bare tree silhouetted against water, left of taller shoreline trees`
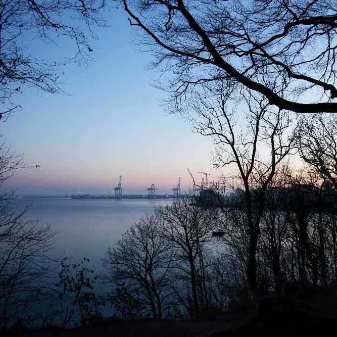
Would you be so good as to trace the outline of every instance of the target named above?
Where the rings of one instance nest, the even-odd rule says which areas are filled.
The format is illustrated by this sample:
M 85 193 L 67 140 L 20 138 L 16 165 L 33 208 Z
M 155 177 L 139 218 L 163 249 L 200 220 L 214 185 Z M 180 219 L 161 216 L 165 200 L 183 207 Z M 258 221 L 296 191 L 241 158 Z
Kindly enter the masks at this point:
M 162 220 L 147 215 L 131 226 L 113 249 L 109 248 L 103 264 L 106 282 L 123 284 L 154 318 L 162 318 L 167 309 L 174 250 L 160 234 Z M 118 300 L 118 299 L 117 299 Z

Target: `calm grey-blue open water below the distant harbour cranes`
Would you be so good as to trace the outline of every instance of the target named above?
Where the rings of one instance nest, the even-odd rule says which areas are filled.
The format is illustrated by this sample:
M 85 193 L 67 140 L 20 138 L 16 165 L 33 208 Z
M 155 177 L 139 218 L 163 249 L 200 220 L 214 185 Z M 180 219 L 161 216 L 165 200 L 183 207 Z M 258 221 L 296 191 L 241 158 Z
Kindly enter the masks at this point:
M 24 219 L 37 219 L 57 232 L 51 254 L 82 257 L 91 260 L 95 271 L 102 271 L 101 258 L 122 232 L 155 206 L 166 206 L 171 200 L 73 200 L 69 198 L 20 198 L 17 209 L 31 205 Z

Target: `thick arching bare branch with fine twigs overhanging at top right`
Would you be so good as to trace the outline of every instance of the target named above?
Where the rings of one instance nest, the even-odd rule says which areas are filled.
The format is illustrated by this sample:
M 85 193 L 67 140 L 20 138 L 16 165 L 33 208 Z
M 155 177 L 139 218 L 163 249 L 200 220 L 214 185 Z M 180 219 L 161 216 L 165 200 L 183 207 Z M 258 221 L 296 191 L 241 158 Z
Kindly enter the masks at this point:
M 280 110 L 336 112 L 335 0 L 123 5 L 140 43 L 154 52 L 154 66 L 173 70 L 169 90 L 177 104 L 196 85 L 228 79 Z

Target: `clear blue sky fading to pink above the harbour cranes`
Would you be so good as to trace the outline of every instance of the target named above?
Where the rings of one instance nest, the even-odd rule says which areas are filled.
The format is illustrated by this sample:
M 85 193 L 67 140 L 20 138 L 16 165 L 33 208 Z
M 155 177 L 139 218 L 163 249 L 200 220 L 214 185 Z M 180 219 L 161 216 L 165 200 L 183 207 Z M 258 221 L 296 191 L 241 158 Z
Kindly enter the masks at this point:
M 171 192 L 178 177 L 192 186 L 187 168 L 218 180 L 224 170 L 211 167 L 213 140 L 191 131 L 163 105 L 165 93 L 153 86 L 158 76 L 147 67 L 149 53 L 133 44 L 122 10 L 109 13 L 109 27 L 97 31 L 90 67 L 65 68 L 66 94 L 25 89 L 15 104 L 22 110 L 1 123 L 3 140 L 27 166 L 8 186 L 19 195 L 111 194 L 122 175 L 124 192 L 146 194 L 152 183 Z M 70 45 L 36 42 L 41 55 L 66 55 Z

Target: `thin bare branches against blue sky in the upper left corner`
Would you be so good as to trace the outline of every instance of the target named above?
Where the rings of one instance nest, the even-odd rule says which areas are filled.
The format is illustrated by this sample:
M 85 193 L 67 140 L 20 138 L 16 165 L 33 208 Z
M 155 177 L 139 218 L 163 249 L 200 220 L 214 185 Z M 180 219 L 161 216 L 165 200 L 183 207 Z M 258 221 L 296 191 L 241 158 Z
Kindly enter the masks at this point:
M 27 86 L 61 91 L 60 66 L 69 61 L 88 61 L 90 41 L 95 38 L 92 28 L 104 25 L 103 7 L 104 2 L 94 0 L 0 1 L 0 101 L 9 104 L 11 96 Z M 35 38 L 40 43 L 55 44 L 69 38 L 74 51 L 66 60 L 44 60 L 31 47 Z M 2 113 L 16 108 L 8 105 Z

